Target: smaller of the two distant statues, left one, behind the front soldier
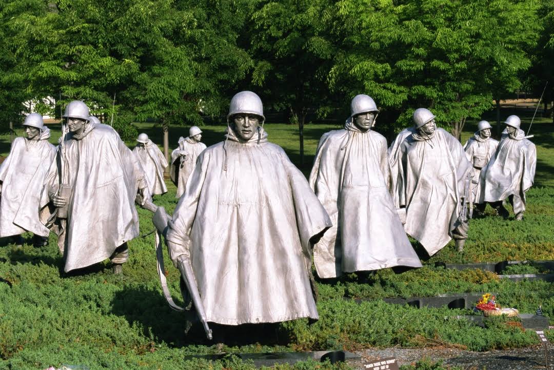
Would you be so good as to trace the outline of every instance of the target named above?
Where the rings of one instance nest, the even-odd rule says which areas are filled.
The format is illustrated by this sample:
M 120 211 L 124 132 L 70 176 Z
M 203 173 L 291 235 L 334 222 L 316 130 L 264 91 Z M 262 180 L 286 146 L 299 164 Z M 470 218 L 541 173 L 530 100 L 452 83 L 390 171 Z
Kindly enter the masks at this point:
M 163 181 L 163 172 L 167 168 L 166 157 L 146 133 L 141 133 L 137 137 L 137 145 L 133 149 L 133 153 L 146 174 L 150 194 L 167 193 L 166 183 Z

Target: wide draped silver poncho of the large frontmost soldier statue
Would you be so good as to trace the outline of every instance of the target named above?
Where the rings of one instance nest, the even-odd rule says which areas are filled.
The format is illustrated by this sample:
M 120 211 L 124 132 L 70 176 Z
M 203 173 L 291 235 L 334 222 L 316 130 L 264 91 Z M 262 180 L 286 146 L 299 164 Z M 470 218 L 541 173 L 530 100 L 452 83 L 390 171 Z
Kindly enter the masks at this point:
M 199 155 L 167 233 L 170 256 L 191 264 L 208 321 L 317 319 L 310 239 L 331 220 L 283 149 L 258 130 L 246 143 L 228 130 Z

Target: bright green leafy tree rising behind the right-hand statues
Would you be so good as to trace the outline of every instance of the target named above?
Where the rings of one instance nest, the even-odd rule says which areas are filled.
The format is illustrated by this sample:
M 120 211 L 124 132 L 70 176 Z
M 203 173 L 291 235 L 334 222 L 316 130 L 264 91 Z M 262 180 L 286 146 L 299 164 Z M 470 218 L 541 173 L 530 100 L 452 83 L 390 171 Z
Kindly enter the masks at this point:
M 403 112 L 398 126 L 429 107 L 459 138 L 468 117 L 490 108 L 495 84 L 513 89 L 530 66 L 536 9 L 534 0 L 343 0 L 335 24 L 347 51 L 338 54 L 331 85 Z

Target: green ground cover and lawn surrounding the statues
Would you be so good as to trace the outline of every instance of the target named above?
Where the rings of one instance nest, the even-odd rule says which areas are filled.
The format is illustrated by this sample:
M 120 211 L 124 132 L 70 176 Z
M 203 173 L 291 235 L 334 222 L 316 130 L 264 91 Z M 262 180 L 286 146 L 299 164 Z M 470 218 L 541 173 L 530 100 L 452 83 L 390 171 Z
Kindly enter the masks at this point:
M 528 125 L 529 121 L 524 120 L 525 129 Z M 475 122 L 469 122 L 464 141 L 475 126 Z M 437 343 L 484 351 L 537 344 L 536 334 L 521 330 L 514 321 L 499 318 L 487 328 L 480 328 L 453 318 L 471 314 L 469 310 L 416 309 L 386 304 L 381 298 L 489 291 L 497 294 L 502 306 L 516 307 L 520 312 L 534 312 L 542 304 L 545 314 L 551 317 L 551 325 L 554 323 L 552 283 L 511 282 L 481 270 L 453 271 L 433 266 L 436 261 L 554 260 L 554 130 L 551 127 L 546 120 L 533 124 L 537 175 L 535 186 L 527 193 L 528 208 L 523 222 L 515 222 L 513 217 L 510 220 L 494 217 L 489 208 L 489 217 L 471 220 L 463 254 L 450 243 L 433 258 L 424 258 L 423 269 L 402 274 L 385 269 L 369 276 L 351 274 L 332 283 L 320 281 L 317 283 L 320 320 L 312 325 L 307 320 L 238 328 L 213 325 L 214 342 L 203 340 L 203 333 L 197 327 L 186 335 L 186 314 L 172 311 L 161 293 L 153 235 L 129 243 L 130 260 L 124 266 L 123 276 L 114 276 L 107 262 L 93 266 L 86 274 L 61 274 L 63 261 L 53 235 L 44 248 L 2 246 L 0 278 L 11 286 L 0 281 L 0 369 L 83 364 L 90 369 L 249 370 L 253 368 L 251 364 L 234 360 L 207 363 L 183 362 L 182 358 L 188 354 L 222 351 L 356 350 Z M 305 126 L 304 173 L 310 170 L 322 133 L 338 128 Z M 55 142 L 59 130 L 52 129 L 52 142 Z M 269 140 L 283 146 L 291 160 L 299 163 L 296 127 L 267 124 L 265 129 Z M 161 129 L 141 124 L 139 130 L 148 133 L 158 145 L 161 143 Z M 208 146 L 223 138 L 224 126 L 206 126 L 202 130 L 203 141 Z M 186 133 L 188 127 L 172 127 L 172 147 Z M 0 136 L 0 155 L 6 156 L 8 152 L 9 136 Z M 156 197 L 155 203 L 172 212 L 177 204 L 175 186 L 168 183 L 168 188 L 170 191 Z M 153 229 L 151 213 L 139 209 L 139 215 L 141 234 L 148 234 Z M 170 288 L 173 296 L 179 297 L 178 271 L 169 263 L 167 254 L 165 258 Z M 375 300 L 356 304 L 343 297 Z M 547 335 L 554 340 L 552 331 L 547 331 Z M 340 368 L 329 364 L 316 366 L 319 364 L 302 363 L 294 368 Z M 435 368 L 425 366 L 420 368 Z

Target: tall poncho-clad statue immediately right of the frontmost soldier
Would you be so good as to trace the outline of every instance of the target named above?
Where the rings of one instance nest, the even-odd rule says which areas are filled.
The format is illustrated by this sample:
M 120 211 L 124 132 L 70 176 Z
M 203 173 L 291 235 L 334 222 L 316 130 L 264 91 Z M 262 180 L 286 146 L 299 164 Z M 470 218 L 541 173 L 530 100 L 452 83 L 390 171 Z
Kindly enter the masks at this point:
M 314 246 L 321 278 L 403 265 L 421 267 L 389 193 L 387 141 L 371 127 L 379 111 L 357 95 L 343 130 L 325 133 L 310 186 L 333 223 Z

